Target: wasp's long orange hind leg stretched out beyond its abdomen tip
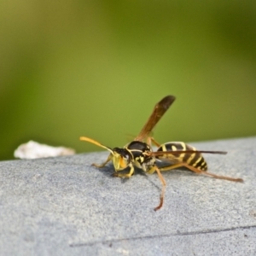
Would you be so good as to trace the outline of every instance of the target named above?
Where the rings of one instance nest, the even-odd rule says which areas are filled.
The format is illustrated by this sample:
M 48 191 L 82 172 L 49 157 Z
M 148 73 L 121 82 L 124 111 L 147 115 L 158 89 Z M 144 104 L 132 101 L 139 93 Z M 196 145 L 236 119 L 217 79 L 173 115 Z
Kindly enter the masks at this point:
M 238 182 L 238 183 L 242 183 L 243 182 L 242 178 L 221 176 L 221 175 L 213 174 L 211 172 L 201 171 L 201 170 L 195 168 L 194 166 L 189 166 L 186 163 L 177 163 L 176 165 L 173 165 L 173 166 L 166 166 L 166 167 L 160 168 L 160 171 L 161 172 L 162 171 L 169 171 L 169 170 L 175 169 L 177 167 L 182 167 L 182 166 L 187 167 L 190 171 L 195 172 L 197 174 L 203 174 L 203 175 L 207 175 L 207 176 L 211 176 L 211 177 L 215 177 L 215 178 L 219 178 L 219 179 L 225 179 L 225 180 L 229 180 L 229 181 L 233 181 L 233 182 Z

